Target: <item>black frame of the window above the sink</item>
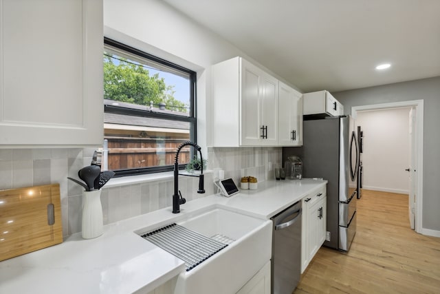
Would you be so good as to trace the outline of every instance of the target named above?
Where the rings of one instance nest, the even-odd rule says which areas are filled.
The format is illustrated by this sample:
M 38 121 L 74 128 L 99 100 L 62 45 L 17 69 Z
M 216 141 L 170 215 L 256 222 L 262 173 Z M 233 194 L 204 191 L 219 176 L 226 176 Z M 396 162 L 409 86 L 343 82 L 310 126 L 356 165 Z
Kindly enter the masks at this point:
M 104 113 L 112 113 L 112 114 L 124 114 L 128 116 L 143 116 L 143 117 L 149 117 L 149 118 L 158 118 L 158 119 L 165 119 L 165 120 L 175 120 L 175 121 L 182 121 L 190 124 L 190 140 L 197 144 L 197 116 L 196 116 L 196 101 L 197 101 L 197 73 L 189 70 L 186 67 L 182 67 L 180 65 L 177 65 L 175 63 L 172 63 L 170 61 L 166 61 L 165 59 L 161 59 L 157 56 L 154 56 L 152 54 L 148 54 L 146 52 L 143 52 L 142 50 L 138 50 L 136 48 L 133 48 L 129 45 L 126 45 L 124 43 L 120 43 L 118 41 L 115 41 L 113 39 L 109 39 L 104 36 L 104 50 L 106 47 L 115 48 L 117 50 L 122 50 L 124 52 L 127 52 L 129 54 L 133 54 L 135 56 L 139 56 L 144 59 L 151 60 L 155 63 L 159 63 L 162 65 L 165 65 L 167 67 L 171 67 L 174 70 L 178 70 L 180 72 L 184 72 L 189 75 L 190 77 L 190 113 L 189 116 L 177 116 L 173 114 L 166 114 L 162 112 L 150 112 L 148 110 L 142 110 L 142 109 L 131 109 L 126 107 L 120 107 L 115 105 L 103 105 L 104 106 Z M 104 97 L 102 97 L 104 98 Z M 104 125 L 102 125 L 102 132 L 104 132 Z M 177 151 L 177 150 L 176 150 Z M 190 150 L 190 158 L 194 155 L 194 150 Z M 180 164 L 179 169 L 184 169 L 186 167 L 186 164 Z M 156 167 L 142 167 L 138 169 L 119 169 L 114 170 L 115 177 L 122 177 L 122 176 L 135 176 L 140 174 L 155 174 L 165 171 L 173 171 L 174 166 L 173 165 L 162 165 L 162 166 L 156 166 Z

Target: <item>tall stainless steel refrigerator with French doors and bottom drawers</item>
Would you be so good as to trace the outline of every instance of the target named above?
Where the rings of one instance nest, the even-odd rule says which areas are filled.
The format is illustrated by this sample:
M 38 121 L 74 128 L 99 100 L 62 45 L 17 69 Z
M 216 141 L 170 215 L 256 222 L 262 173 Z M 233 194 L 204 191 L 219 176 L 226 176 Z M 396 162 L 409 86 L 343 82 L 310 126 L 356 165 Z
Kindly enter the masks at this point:
M 327 240 L 324 245 L 349 251 L 356 232 L 359 147 L 351 116 L 304 120 L 303 147 L 283 147 L 303 160 L 304 178 L 324 178 L 327 185 Z

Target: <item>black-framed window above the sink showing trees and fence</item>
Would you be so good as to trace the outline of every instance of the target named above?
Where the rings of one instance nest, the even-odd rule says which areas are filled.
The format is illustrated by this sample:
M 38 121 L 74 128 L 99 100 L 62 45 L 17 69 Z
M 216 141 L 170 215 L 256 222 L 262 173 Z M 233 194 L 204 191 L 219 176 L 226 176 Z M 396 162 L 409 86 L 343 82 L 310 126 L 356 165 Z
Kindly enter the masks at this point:
M 117 176 L 173 170 L 195 142 L 195 72 L 104 39 L 104 139 Z M 179 164 L 193 156 L 182 149 Z

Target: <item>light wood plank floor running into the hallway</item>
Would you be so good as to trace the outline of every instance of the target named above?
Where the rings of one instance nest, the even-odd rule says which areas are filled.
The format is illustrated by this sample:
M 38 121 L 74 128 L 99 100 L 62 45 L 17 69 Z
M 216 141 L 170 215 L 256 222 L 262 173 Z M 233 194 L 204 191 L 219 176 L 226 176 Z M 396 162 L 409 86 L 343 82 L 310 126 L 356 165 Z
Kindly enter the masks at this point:
M 412 231 L 408 196 L 364 190 L 349 253 L 322 247 L 294 294 L 440 293 L 440 238 Z

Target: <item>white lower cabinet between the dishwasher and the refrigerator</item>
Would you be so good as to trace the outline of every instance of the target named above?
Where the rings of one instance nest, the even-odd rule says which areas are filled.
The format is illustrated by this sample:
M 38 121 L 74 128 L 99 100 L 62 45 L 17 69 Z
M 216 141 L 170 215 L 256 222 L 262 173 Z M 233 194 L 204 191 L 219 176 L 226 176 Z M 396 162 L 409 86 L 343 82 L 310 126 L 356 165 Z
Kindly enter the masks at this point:
M 301 273 L 325 242 L 327 231 L 327 193 L 322 187 L 303 198 L 301 235 Z

